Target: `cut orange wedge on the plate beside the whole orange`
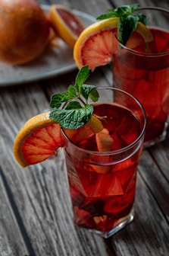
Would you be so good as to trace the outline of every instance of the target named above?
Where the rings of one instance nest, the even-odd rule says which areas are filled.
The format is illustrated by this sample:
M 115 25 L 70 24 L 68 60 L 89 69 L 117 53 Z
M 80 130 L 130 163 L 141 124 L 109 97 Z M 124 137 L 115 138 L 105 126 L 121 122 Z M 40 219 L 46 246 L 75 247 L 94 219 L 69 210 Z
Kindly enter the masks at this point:
M 49 18 L 56 34 L 70 48 L 74 48 L 77 37 L 85 28 L 77 15 L 63 5 L 51 5 Z

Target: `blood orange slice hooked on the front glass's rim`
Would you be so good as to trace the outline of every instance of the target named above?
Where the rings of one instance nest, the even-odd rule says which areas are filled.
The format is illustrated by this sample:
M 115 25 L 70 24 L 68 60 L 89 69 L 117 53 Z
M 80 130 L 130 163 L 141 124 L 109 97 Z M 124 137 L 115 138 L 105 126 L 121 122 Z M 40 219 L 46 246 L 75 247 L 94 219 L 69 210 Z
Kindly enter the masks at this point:
M 88 123 L 79 129 L 64 129 L 64 132 L 73 141 L 78 141 L 102 129 L 102 122 L 92 116 Z M 14 157 L 23 167 L 35 165 L 52 155 L 57 155 L 58 149 L 64 147 L 64 144 L 65 139 L 60 124 L 49 119 L 49 112 L 38 114 L 30 118 L 17 133 L 14 141 Z

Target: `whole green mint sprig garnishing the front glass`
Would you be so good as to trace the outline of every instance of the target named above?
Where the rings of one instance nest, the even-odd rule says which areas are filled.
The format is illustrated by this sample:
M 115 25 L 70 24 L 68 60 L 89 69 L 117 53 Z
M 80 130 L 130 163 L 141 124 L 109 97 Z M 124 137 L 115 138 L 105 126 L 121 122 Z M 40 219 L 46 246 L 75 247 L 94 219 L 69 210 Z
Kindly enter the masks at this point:
M 88 100 L 90 98 L 95 102 L 99 98 L 94 85 L 84 84 L 88 77 L 89 66 L 83 66 L 77 74 L 74 85 L 70 85 L 67 91 L 61 94 L 52 95 L 50 119 L 68 129 L 77 129 L 87 123 L 93 112 Z

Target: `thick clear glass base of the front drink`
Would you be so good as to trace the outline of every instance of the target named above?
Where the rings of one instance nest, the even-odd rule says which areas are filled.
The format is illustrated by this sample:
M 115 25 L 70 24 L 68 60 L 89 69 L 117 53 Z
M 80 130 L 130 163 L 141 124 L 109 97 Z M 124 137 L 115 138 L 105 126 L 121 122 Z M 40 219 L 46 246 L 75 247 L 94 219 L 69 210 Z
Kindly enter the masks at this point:
M 119 232 L 120 229 L 124 229 L 124 227 L 127 226 L 127 224 L 129 224 L 130 222 L 133 221 L 133 218 L 134 218 L 134 210 L 132 209 L 130 211 L 130 213 L 127 214 L 127 216 L 119 219 L 116 226 L 114 226 L 114 228 L 108 232 L 102 232 L 102 231 L 95 230 L 95 229 L 88 229 L 88 230 L 89 230 L 89 232 L 92 232 L 93 234 L 101 235 L 103 238 L 109 238 L 111 235 L 114 235 L 115 233 Z

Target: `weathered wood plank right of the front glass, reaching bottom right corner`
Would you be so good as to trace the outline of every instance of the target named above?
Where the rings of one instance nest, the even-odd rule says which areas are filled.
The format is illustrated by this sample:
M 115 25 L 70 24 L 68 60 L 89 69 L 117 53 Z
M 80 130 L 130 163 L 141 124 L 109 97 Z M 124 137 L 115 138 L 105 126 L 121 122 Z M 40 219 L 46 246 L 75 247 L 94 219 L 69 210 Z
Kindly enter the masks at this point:
M 156 174 L 159 172 L 158 184 L 162 186 L 165 181 L 160 170 L 157 170 L 149 153 L 144 151 L 137 178 L 134 221 L 111 238 L 117 255 L 162 256 L 168 254 L 169 197 L 162 198 L 161 190 L 157 194 L 155 186 L 158 184 L 153 172 Z M 165 192 L 168 194 L 168 184 Z

